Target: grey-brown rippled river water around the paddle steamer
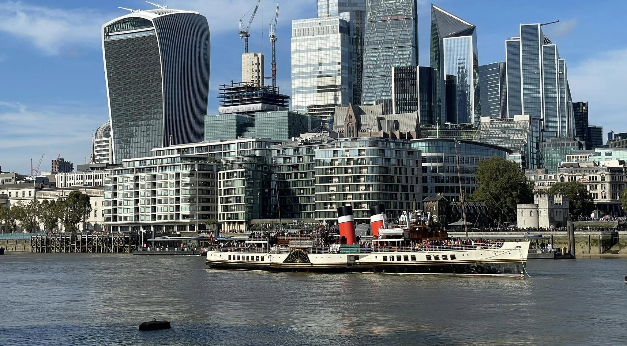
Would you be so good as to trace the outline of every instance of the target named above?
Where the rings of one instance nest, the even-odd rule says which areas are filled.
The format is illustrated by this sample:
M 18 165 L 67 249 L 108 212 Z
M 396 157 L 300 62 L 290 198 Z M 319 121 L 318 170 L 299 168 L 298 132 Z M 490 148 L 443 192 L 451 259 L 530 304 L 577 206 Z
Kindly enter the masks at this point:
M 625 345 L 627 260 L 532 278 L 213 270 L 201 257 L 0 256 L 0 345 Z M 169 330 L 139 332 L 152 318 Z

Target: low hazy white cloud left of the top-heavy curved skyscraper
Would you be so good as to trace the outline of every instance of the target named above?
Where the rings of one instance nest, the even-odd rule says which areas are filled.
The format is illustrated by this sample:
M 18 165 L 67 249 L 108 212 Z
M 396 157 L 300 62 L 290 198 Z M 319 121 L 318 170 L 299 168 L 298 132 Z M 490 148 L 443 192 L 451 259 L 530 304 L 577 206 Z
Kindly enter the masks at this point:
M 94 111 L 91 109 L 90 111 Z M 31 108 L 18 102 L 0 101 L 0 165 L 6 171 L 29 173 L 29 158 L 61 157 L 75 164 L 91 151 L 92 130 L 107 121 L 105 110 L 97 116 L 80 108 L 51 105 Z M 54 156 L 54 157 L 52 157 Z M 50 170 L 42 163 L 41 171 Z

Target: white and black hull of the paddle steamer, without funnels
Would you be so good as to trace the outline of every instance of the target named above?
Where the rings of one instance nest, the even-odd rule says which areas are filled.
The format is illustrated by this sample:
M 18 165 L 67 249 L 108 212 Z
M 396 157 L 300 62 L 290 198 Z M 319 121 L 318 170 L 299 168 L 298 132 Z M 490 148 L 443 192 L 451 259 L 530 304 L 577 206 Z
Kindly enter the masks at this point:
M 321 248 L 280 248 L 270 252 L 246 249 L 209 250 L 206 263 L 212 268 L 282 272 L 373 272 L 448 275 L 506 275 L 522 277 L 529 242 L 490 245 L 432 247 L 426 250 L 361 253 L 322 253 Z

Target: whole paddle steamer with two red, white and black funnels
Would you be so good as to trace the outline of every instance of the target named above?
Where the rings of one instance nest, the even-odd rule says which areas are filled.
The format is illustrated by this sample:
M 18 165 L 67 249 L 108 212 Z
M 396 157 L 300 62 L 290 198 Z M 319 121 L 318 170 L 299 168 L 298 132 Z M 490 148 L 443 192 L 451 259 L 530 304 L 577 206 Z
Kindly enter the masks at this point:
M 337 211 L 335 241 L 312 235 L 249 237 L 239 246 L 209 248 L 206 263 L 211 268 L 282 272 L 524 276 L 529 242 L 456 243 L 446 232 L 416 222 L 415 213 L 401 216 L 399 225 L 388 225 L 383 205 L 371 207 L 372 240 L 358 240 L 352 208 Z

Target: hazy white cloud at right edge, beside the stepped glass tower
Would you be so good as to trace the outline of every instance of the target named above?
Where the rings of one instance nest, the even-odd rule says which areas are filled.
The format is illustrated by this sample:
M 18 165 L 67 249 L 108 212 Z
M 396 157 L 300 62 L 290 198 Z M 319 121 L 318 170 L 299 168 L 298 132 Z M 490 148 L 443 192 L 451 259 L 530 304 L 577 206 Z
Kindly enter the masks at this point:
M 608 51 L 576 66 L 568 66 L 573 101 L 588 101 L 590 125 L 603 131 L 627 131 L 623 83 L 627 71 L 627 48 Z

